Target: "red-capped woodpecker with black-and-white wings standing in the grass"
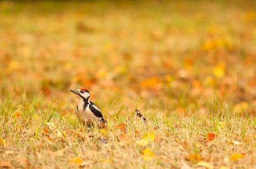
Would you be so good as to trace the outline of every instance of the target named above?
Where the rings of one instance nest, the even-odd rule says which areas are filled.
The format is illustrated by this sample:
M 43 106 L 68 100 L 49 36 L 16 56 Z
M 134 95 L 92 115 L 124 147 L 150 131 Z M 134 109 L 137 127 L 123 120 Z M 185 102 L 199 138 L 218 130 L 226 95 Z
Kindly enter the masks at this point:
M 75 114 L 78 117 L 79 122 L 86 126 L 94 124 L 102 125 L 106 122 L 103 119 L 99 108 L 89 100 L 90 93 L 87 89 L 70 90 L 78 97 L 78 105 L 75 109 Z

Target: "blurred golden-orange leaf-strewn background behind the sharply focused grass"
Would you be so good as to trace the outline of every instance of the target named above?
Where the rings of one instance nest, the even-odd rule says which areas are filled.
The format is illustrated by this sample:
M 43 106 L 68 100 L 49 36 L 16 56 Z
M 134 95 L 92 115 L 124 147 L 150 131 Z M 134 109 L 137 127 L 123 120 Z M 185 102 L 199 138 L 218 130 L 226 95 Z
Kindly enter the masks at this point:
M 256 2 L 0 2 L 0 96 L 71 113 L 256 112 Z

